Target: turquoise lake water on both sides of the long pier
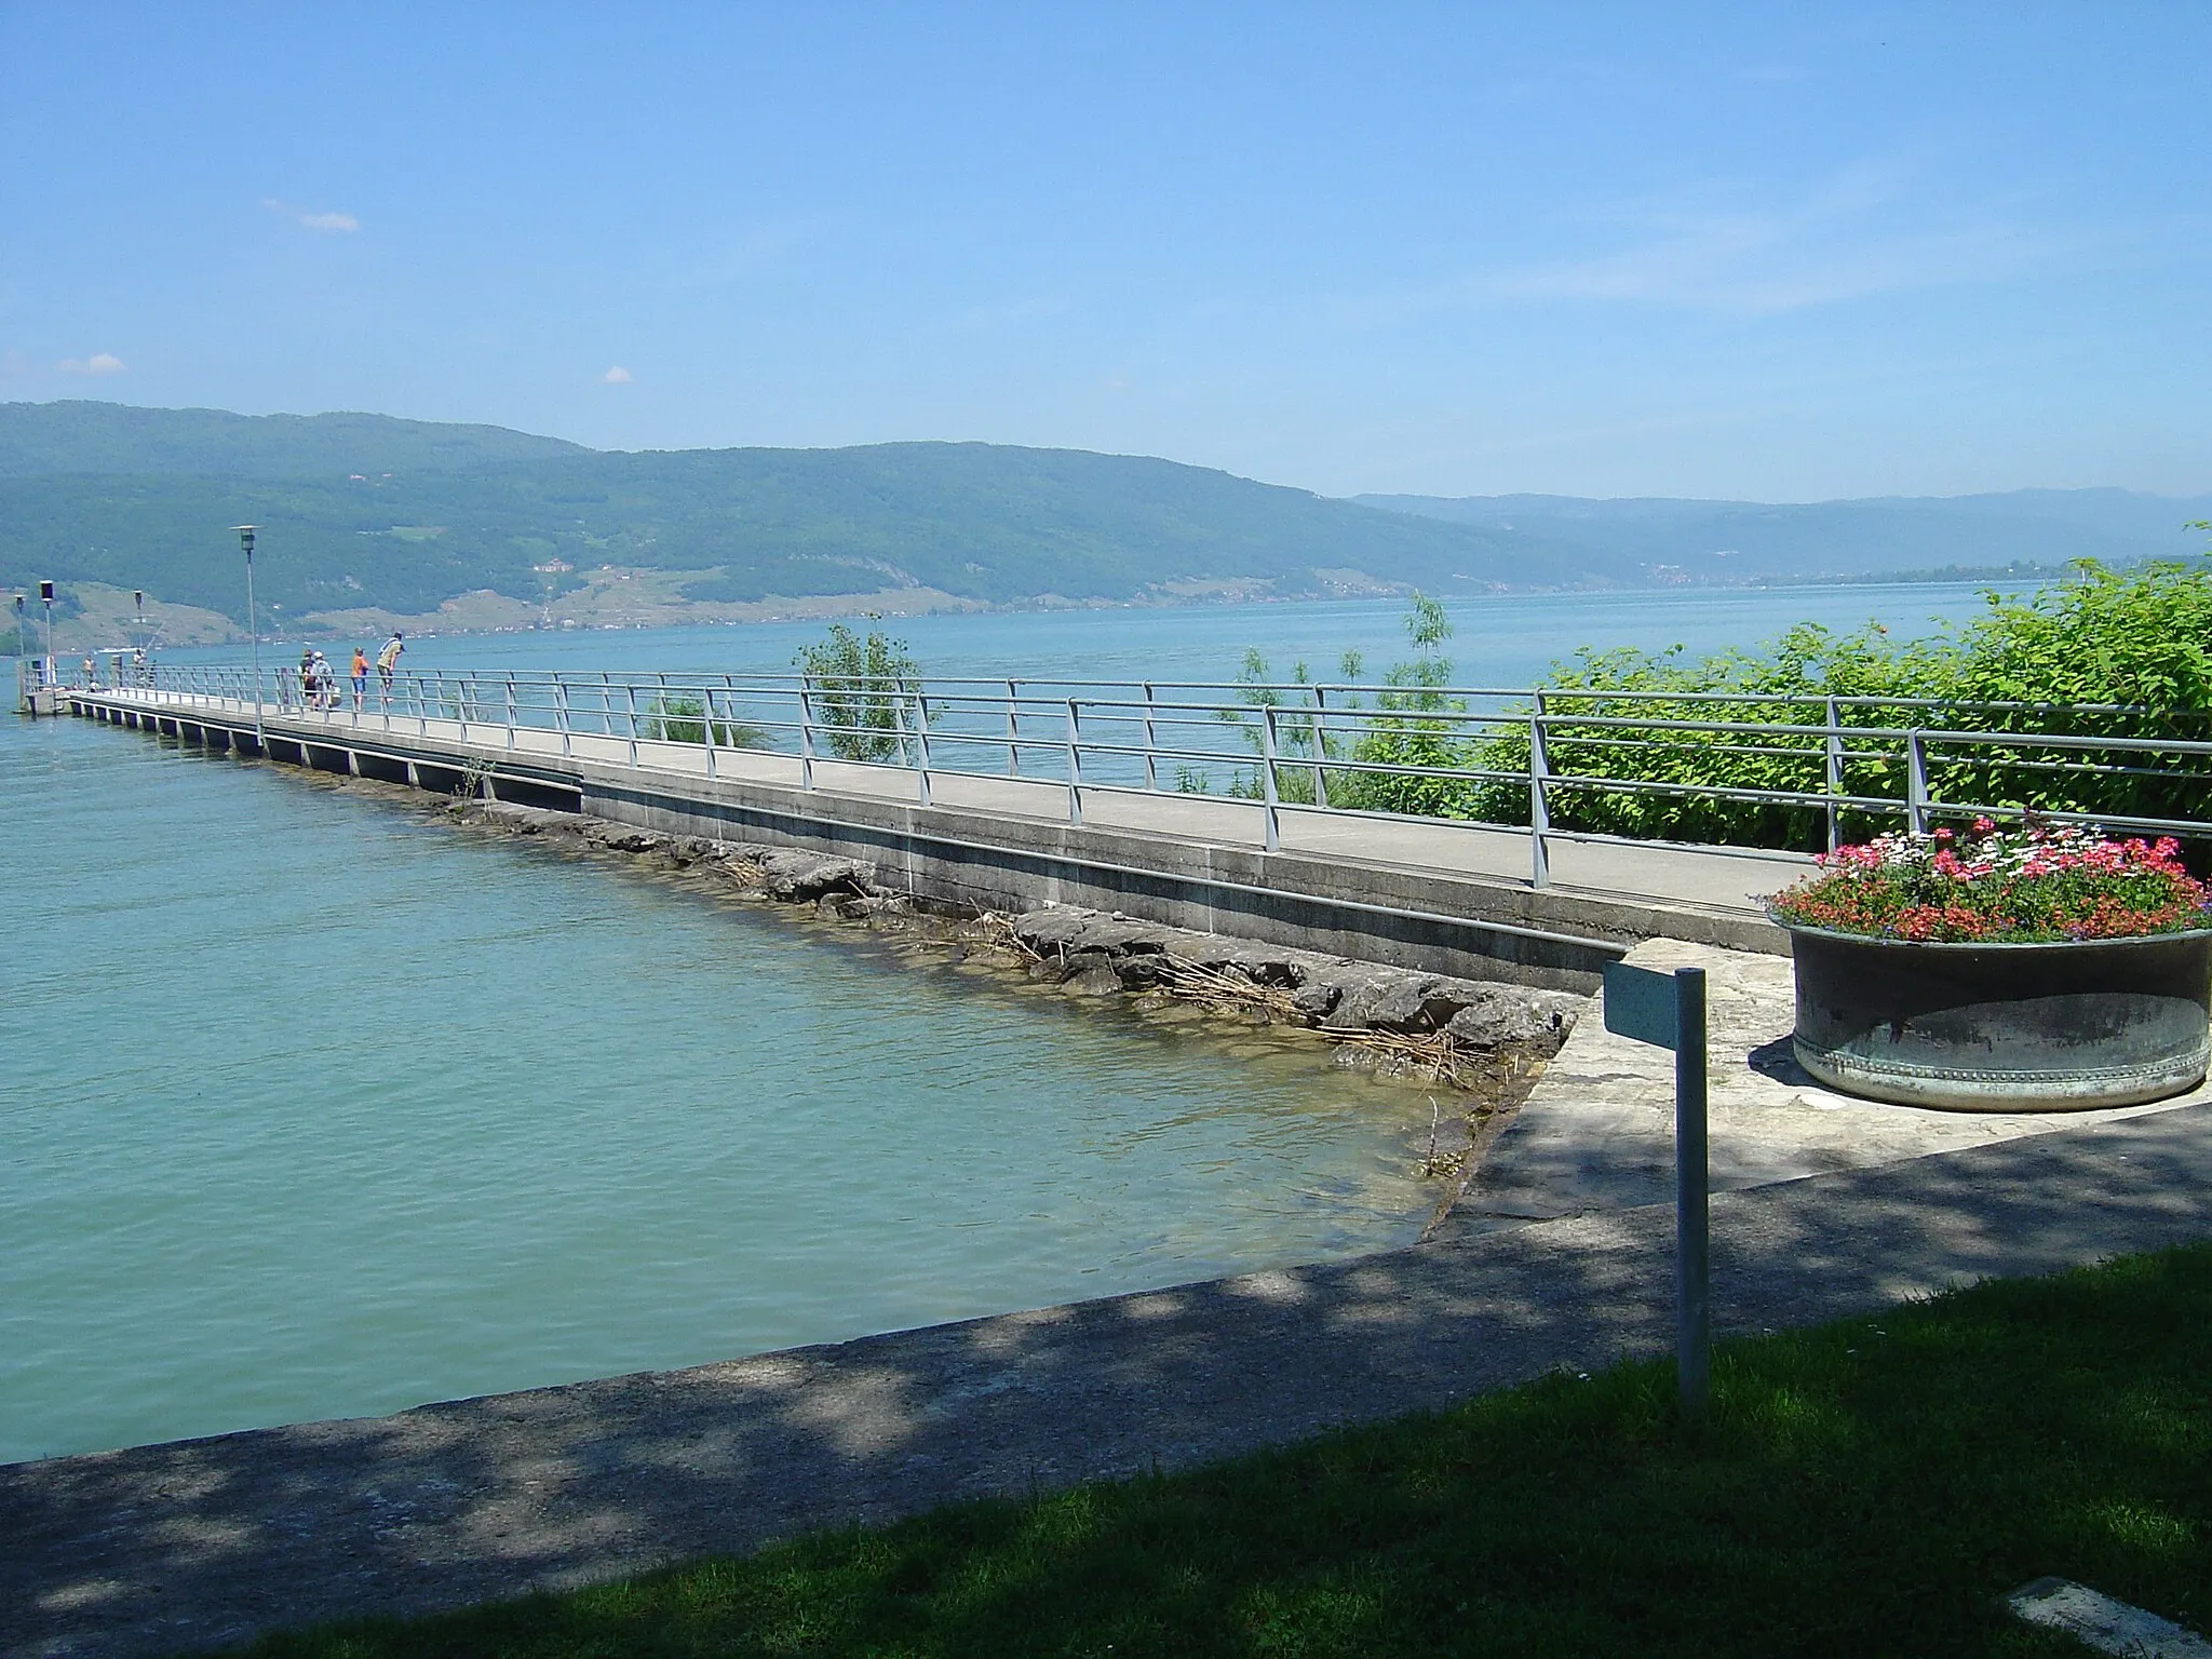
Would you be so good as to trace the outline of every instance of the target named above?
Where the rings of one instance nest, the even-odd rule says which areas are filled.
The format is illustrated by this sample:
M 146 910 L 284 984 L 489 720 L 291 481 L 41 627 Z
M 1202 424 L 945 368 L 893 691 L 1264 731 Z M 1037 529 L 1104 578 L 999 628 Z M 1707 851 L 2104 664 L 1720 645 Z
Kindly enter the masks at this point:
M 1462 602 L 1575 644 L 1924 630 L 1973 588 Z M 1387 602 L 916 617 L 933 675 L 1385 664 Z M 411 641 L 787 666 L 818 624 Z M 208 655 L 208 653 L 201 653 Z M 221 653 L 226 657 L 234 653 Z M 0 1460 L 672 1367 L 1409 1241 L 1420 1091 L 478 841 L 290 768 L 0 723 Z

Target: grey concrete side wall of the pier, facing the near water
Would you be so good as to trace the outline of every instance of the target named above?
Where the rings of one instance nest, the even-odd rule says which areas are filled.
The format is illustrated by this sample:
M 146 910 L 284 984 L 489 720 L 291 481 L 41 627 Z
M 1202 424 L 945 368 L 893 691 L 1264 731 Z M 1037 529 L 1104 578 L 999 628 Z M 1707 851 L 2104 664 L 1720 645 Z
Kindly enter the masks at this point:
M 77 697 L 93 719 L 190 743 L 411 783 L 462 785 L 491 763 L 500 801 L 582 810 L 668 834 L 865 858 L 878 880 L 938 905 L 1026 911 L 1082 905 L 1232 938 L 1473 980 L 1593 991 L 1604 964 L 1646 938 L 1785 951 L 1750 914 L 1533 889 L 1447 869 L 1071 825 L 883 796 L 703 779 L 584 759 L 513 757 L 440 737 L 319 721 L 168 712 Z

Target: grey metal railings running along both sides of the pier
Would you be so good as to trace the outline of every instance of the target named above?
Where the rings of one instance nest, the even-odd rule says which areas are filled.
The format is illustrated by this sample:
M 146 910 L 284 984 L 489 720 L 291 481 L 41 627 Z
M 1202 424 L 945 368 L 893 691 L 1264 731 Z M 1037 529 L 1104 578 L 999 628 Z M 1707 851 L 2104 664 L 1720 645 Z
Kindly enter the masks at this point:
M 1214 796 L 1250 805 L 1270 852 L 1290 814 L 1442 818 L 1524 834 L 1537 887 L 1551 880 L 1557 843 L 1661 838 L 1772 856 L 1774 841 L 1834 847 L 1882 825 L 2028 814 L 2212 841 L 2212 721 L 2201 721 L 2203 737 L 2183 737 L 2174 728 L 2194 717 L 2126 706 L 442 670 L 372 675 L 356 690 L 288 668 L 257 679 L 221 666 L 159 666 L 137 679 L 104 690 L 142 706 L 440 737 L 518 759 L 708 779 L 761 779 L 774 765 L 805 790 L 872 768 L 909 774 L 902 792 L 920 805 L 945 776 L 1020 779 L 1051 785 L 1055 812 L 1073 825 L 1099 792 Z M 64 675 L 64 684 L 77 681 Z M 1683 834 L 1697 825 L 1725 834 Z

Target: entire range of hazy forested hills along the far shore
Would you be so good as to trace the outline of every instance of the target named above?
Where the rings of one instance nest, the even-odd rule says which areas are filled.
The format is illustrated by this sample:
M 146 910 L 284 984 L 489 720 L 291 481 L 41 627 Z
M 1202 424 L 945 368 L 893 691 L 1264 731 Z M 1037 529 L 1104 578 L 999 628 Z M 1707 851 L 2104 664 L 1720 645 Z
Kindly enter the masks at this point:
M 372 414 L 0 405 L 0 586 L 243 619 L 228 526 L 252 522 L 261 599 L 294 630 L 1847 580 L 2188 555 L 2192 518 L 2212 498 L 1327 500 L 1079 449 L 622 453 Z

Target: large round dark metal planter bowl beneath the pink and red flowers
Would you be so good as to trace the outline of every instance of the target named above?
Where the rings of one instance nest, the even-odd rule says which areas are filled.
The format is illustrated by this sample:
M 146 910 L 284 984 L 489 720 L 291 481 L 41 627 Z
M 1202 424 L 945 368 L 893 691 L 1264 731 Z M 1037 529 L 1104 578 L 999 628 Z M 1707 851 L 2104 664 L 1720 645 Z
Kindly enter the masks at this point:
M 2066 1113 L 2205 1077 L 2212 929 L 2053 945 L 1790 931 L 1798 1064 L 1902 1106 Z

